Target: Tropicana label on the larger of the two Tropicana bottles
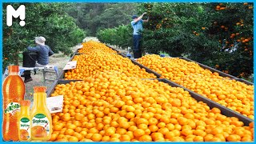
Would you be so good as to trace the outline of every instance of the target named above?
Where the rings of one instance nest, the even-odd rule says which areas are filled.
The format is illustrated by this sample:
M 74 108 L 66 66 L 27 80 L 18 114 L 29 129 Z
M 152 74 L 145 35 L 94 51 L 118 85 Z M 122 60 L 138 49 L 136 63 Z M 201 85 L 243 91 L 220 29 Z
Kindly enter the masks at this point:
M 35 138 L 46 138 L 50 134 L 50 122 L 45 114 L 36 114 L 32 118 L 31 131 Z

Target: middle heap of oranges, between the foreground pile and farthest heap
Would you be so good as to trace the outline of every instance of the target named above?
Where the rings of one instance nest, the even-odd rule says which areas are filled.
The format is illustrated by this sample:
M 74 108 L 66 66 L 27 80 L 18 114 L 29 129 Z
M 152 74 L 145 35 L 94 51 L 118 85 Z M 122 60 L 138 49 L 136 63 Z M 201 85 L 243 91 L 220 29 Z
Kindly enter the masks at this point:
M 72 61 L 77 61 L 77 67 L 68 70 L 64 75 L 65 79 L 85 79 L 104 71 L 120 71 L 135 78 L 156 78 L 154 74 L 147 73 L 129 58 L 123 58 L 119 54 L 94 50 L 92 53 L 75 55 Z

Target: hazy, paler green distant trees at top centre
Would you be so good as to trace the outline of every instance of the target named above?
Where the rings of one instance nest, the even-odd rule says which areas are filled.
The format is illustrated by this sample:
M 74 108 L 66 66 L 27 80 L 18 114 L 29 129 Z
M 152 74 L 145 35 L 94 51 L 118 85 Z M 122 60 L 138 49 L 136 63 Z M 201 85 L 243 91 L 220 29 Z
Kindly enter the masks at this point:
M 70 4 L 68 14 L 76 19 L 79 27 L 96 35 L 98 30 L 130 23 L 137 3 L 75 3 Z

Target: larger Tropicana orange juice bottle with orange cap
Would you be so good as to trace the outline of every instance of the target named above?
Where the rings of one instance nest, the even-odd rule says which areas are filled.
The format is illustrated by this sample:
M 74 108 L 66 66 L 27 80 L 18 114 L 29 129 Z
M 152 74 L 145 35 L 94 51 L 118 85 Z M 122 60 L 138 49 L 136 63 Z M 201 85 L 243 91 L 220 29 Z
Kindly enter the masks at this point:
M 34 86 L 34 104 L 31 110 L 32 141 L 47 141 L 52 133 L 52 119 L 46 106 L 46 86 Z

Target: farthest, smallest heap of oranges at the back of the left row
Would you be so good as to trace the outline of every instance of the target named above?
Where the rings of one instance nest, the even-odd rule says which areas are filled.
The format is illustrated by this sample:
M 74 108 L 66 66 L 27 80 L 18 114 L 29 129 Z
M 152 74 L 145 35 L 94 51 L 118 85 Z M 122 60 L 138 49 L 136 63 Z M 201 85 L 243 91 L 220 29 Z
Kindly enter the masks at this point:
M 92 54 L 94 51 L 101 51 L 103 53 L 112 53 L 116 54 L 118 53 L 116 50 L 110 49 L 110 47 L 106 46 L 105 44 L 101 42 L 84 42 L 82 43 L 82 48 L 78 50 L 78 53 L 81 54 Z

